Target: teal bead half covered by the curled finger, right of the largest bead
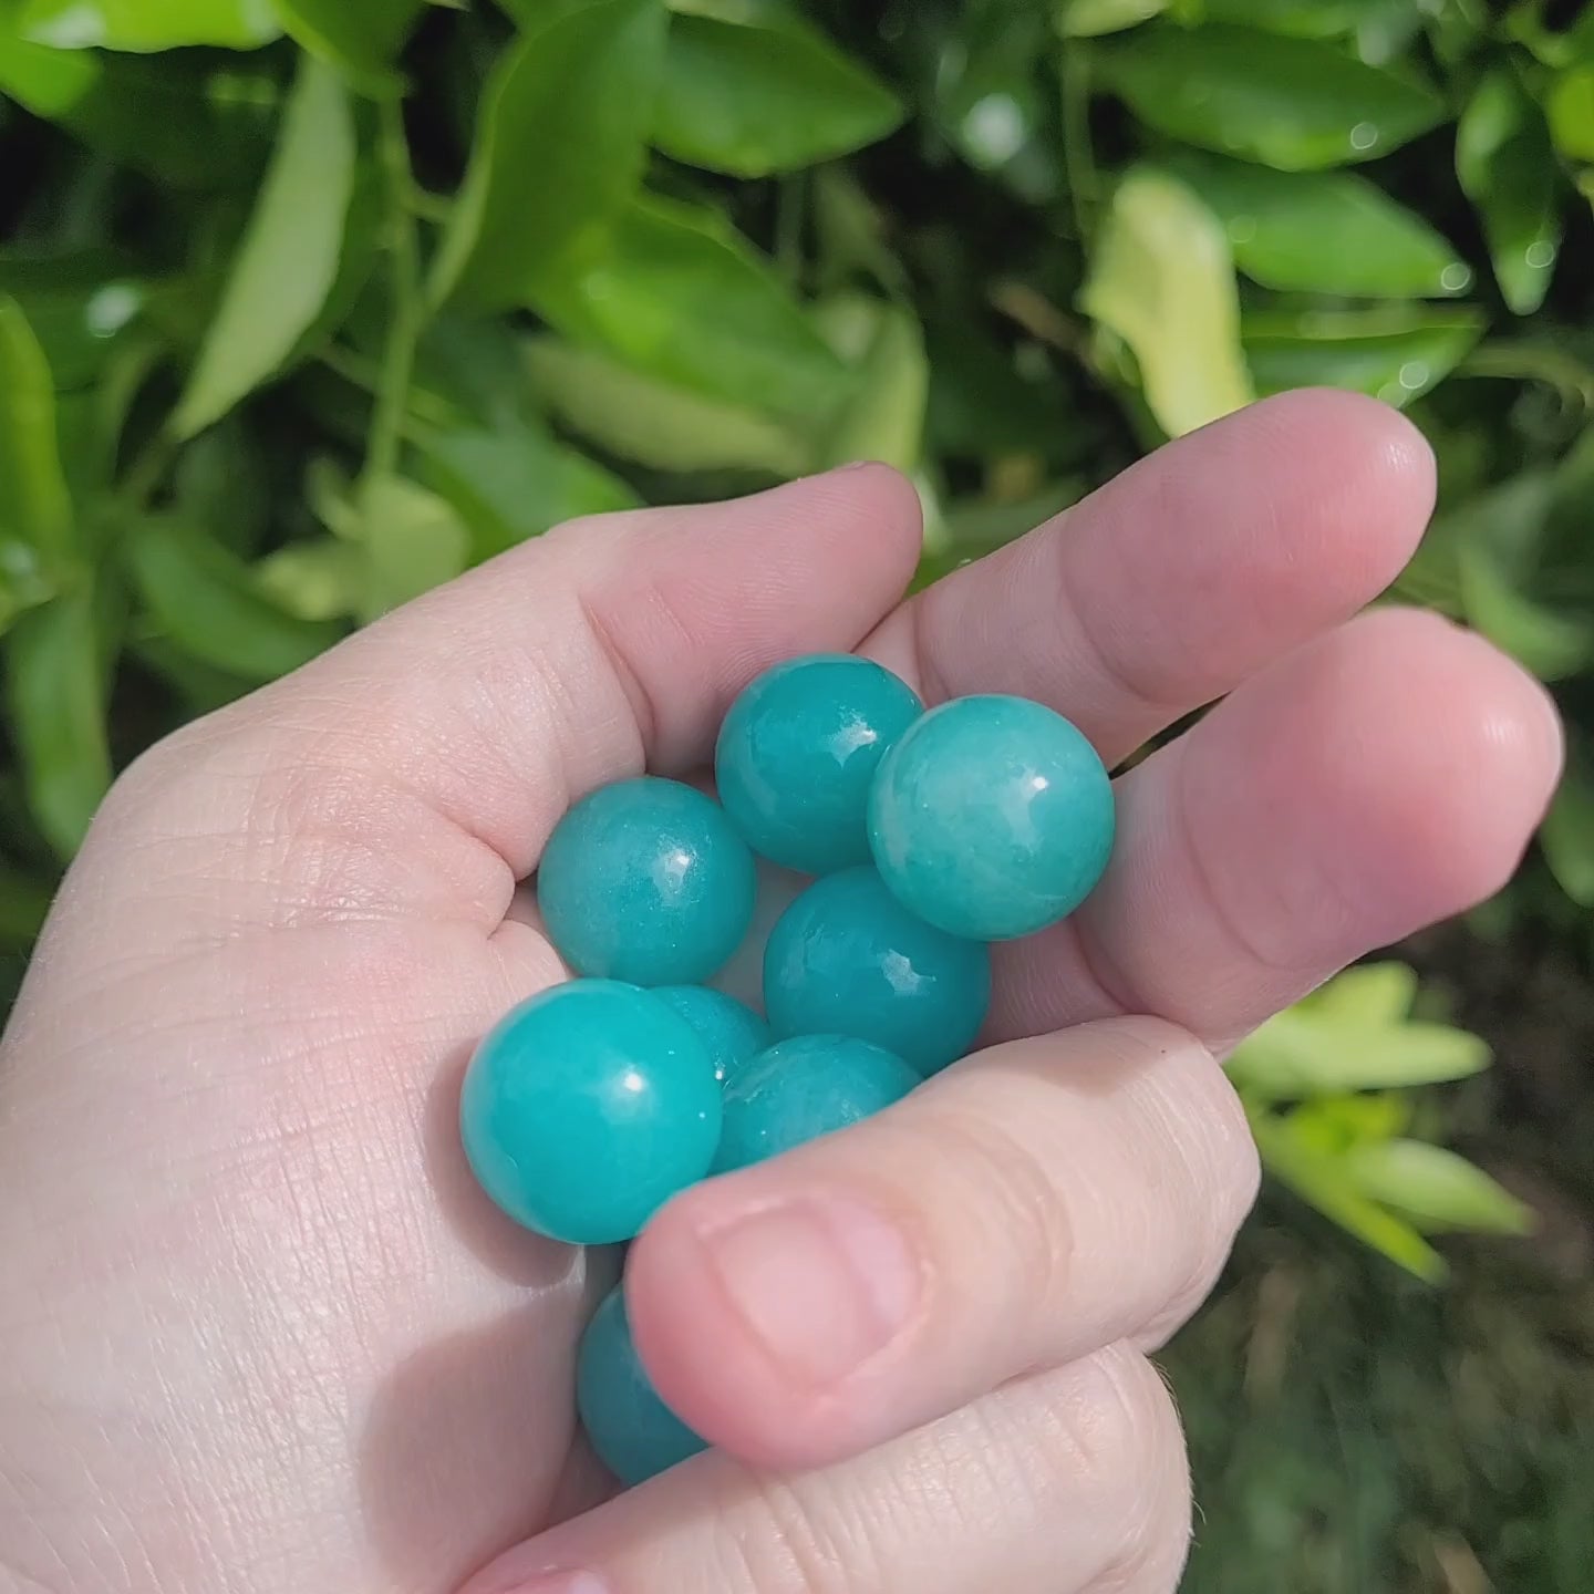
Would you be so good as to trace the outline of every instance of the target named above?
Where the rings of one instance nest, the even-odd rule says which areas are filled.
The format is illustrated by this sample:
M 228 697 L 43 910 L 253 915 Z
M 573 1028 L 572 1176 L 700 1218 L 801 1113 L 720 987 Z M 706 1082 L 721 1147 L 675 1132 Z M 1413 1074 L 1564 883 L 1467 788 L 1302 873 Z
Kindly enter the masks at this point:
M 901 1057 L 851 1036 L 778 1041 L 725 1092 L 714 1172 L 732 1173 L 846 1129 L 901 1101 L 918 1082 Z

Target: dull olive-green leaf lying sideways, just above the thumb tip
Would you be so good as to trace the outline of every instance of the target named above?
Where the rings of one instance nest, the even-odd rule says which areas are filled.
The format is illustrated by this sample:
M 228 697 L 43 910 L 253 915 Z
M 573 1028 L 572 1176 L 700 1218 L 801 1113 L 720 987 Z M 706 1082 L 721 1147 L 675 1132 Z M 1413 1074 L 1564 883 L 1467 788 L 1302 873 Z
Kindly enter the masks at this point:
M 658 470 L 797 477 L 807 443 L 779 421 L 633 371 L 607 354 L 534 338 L 526 360 L 559 421 L 607 453 Z

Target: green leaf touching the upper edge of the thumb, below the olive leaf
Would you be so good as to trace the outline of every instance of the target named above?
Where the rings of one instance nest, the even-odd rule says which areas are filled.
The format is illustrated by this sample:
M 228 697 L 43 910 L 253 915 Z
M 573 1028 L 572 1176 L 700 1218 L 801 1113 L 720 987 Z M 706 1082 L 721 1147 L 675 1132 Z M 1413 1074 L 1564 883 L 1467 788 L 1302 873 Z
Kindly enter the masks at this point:
M 475 559 L 540 537 L 567 520 L 639 504 L 618 477 L 529 427 L 429 438 L 421 478 L 464 516 Z

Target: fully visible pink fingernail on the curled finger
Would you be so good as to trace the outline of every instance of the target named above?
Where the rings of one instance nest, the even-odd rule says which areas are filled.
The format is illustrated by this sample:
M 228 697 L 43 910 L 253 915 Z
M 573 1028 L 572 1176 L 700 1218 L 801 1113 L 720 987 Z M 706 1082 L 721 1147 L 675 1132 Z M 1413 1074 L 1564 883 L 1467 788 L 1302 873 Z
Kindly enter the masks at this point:
M 783 1200 L 703 1240 L 749 1334 L 794 1384 L 840 1384 L 880 1355 L 918 1305 L 913 1251 L 858 1202 Z

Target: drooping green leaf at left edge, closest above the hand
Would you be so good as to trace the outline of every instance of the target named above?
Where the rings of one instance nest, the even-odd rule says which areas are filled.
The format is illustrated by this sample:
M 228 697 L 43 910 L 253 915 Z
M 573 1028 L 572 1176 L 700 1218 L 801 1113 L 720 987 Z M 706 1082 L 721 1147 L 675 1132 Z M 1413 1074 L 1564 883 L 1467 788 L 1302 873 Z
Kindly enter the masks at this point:
M 92 593 L 56 598 L 18 618 L 6 638 L 6 685 L 29 808 L 49 845 L 72 858 L 112 776 Z

